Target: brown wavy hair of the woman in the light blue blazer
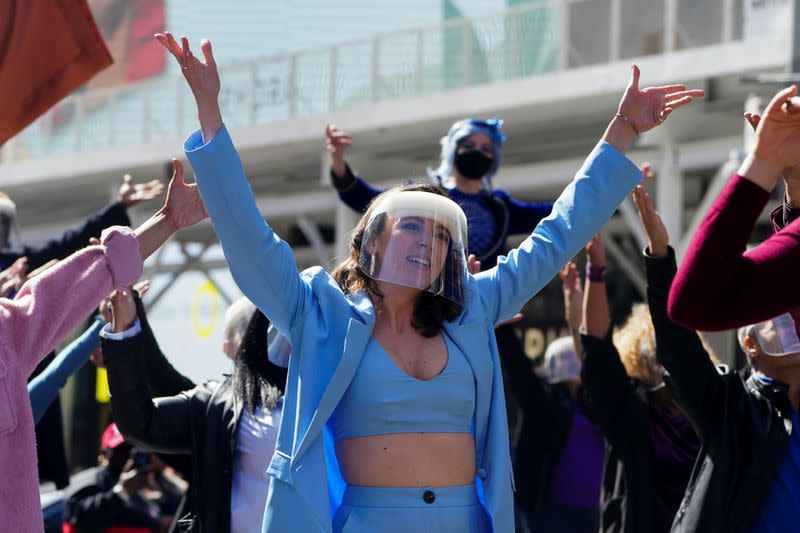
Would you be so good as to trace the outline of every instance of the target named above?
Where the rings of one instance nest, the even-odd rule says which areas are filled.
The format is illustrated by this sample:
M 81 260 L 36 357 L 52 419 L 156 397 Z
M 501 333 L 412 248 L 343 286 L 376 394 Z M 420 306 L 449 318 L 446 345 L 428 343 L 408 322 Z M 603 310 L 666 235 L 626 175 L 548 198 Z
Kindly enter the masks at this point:
M 444 193 L 433 185 L 408 183 L 393 187 L 375 198 L 367 206 L 367 210 L 361 217 L 361 220 L 356 224 L 353 230 L 353 235 L 350 239 L 349 255 L 347 259 L 339 263 L 333 270 L 331 276 L 339 288 L 345 294 L 357 294 L 361 291 L 367 291 L 373 298 L 373 303 L 380 309 L 383 295 L 378 290 L 378 284 L 375 280 L 367 276 L 359 266 L 361 257 L 361 245 L 364 241 L 365 235 L 380 235 L 383 232 L 384 225 L 386 224 L 386 216 L 378 215 L 371 222 L 370 218 L 375 210 L 375 206 L 379 201 L 388 194 L 400 194 L 408 191 L 421 191 L 429 192 L 444 196 Z M 414 314 L 411 318 L 411 325 L 423 337 L 433 337 L 442 331 L 443 324 L 446 320 L 453 320 L 461 314 L 462 307 L 445 298 L 432 294 L 427 291 L 420 291 L 417 301 L 414 304 Z

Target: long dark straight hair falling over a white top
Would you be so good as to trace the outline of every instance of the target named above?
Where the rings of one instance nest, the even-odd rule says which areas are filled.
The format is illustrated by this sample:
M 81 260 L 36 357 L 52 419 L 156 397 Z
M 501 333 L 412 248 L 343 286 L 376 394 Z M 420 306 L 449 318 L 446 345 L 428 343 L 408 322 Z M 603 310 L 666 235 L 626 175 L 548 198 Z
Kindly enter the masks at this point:
M 251 414 L 262 405 L 272 409 L 286 390 L 287 370 L 267 356 L 269 319 L 256 309 L 236 351 L 233 388 L 237 398 Z

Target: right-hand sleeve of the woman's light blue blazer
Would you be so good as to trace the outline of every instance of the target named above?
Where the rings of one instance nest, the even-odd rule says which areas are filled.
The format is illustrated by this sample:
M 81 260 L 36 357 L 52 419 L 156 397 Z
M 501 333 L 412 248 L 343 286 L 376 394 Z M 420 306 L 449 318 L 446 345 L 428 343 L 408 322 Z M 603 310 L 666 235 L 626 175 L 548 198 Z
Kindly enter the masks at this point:
M 486 313 L 494 324 L 509 320 L 558 273 L 641 181 L 624 154 L 601 141 L 533 233 L 501 256 L 497 266 L 475 275 Z

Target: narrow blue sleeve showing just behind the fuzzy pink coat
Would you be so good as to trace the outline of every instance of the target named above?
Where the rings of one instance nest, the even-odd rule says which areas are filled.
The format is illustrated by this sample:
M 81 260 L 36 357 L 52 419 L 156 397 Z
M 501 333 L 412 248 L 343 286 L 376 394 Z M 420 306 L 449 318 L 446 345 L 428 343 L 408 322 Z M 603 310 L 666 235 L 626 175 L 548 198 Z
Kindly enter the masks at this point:
M 95 318 L 83 334 L 61 350 L 47 365 L 44 372 L 28 383 L 28 396 L 33 409 L 33 421 L 39 423 L 47 408 L 58 396 L 59 391 L 67 384 L 67 379 L 74 374 L 100 345 L 100 330 L 103 320 Z

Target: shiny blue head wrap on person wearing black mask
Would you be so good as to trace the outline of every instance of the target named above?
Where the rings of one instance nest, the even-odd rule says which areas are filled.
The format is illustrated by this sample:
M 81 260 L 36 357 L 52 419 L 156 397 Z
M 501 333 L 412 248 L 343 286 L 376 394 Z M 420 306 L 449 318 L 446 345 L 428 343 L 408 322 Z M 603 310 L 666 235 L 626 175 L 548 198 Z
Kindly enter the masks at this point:
M 466 137 L 473 133 L 483 133 L 494 141 L 494 159 L 492 159 L 492 167 L 489 172 L 483 177 L 483 186 L 485 189 L 491 189 L 491 179 L 497 172 L 500 166 L 500 148 L 503 146 L 503 141 L 506 140 L 505 134 L 500 131 L 503 127 L 503 121 L 499 117 L 482 120 L 478 118 L 467 118 L 459 120 L 450 128 L 447 135 L 442 137 L 439 143 L 442 145 L 441 162 L 436 169 L 428 168 L 428 177 L 434 183 L 446 189 L 455 187 L 453 181 L 453 161 L 456 158 L 456 150 L 458 150 L 459 143 Z

